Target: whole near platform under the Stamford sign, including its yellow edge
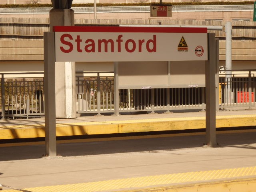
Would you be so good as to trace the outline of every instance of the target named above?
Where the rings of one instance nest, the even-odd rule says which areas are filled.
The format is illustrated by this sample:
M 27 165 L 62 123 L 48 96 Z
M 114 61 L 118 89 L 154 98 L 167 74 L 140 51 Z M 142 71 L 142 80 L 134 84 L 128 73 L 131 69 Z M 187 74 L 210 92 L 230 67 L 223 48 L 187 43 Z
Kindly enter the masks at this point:
M 256 130 L 0 147 L 3 192 L 253 192 Z

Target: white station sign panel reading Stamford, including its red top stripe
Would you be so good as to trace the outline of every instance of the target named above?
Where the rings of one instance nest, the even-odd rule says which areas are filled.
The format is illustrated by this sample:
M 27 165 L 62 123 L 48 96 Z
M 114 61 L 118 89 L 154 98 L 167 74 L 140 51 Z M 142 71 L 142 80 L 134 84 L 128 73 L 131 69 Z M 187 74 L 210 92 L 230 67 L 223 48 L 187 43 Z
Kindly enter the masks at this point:
M 206 28 L 56 26 L 56 62 L 208 60 Z

